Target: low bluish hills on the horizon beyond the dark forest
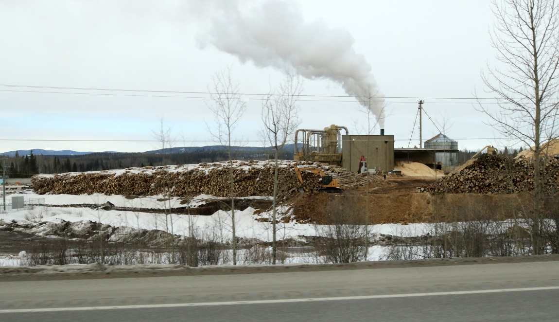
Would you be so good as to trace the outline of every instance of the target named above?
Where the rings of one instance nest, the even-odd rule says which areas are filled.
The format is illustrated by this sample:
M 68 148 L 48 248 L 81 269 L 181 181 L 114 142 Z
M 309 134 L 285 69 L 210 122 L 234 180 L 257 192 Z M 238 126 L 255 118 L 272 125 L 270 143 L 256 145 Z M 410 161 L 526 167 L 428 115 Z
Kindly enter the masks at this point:
M 302 144 L 299 144 L 302 146 Z M 284 150 L 293 150 L 295 144 L 286 144 L 283 146 Z M 224 151 L 227 149 L 225 145 L 208 145 L 208 146 L 181 146 L 177 148 L 169 148 L 169 149 L 159 149 L 159 150 L 150 150 L 145 151 L 143 153 L 146 154 L 172 154 L 172 153 L 189 153 L 189 152 L 198 152 L 198 151 Z M 272 147 L 262 148 L 257 146 L 231 146 L 231 149 L 234 151 L 269 151 Z M 17 153 L 20 156 L 28 155 L 33 151 L 35 155 L 84 155 L 84 154 L 92 154 L 92 153 L 120 153 L 117 151 L 104 151 L 104 152 L 80 152 L 80 151 L 73 151 L 73 150 L 44 150 L 44 149 L 33 149 L 33 150 L 17 150 Z M 7 155 L 8 157 L 15 157 L 16 151 L 8 151 L 4 153 L 0 153 L 0 155 Z

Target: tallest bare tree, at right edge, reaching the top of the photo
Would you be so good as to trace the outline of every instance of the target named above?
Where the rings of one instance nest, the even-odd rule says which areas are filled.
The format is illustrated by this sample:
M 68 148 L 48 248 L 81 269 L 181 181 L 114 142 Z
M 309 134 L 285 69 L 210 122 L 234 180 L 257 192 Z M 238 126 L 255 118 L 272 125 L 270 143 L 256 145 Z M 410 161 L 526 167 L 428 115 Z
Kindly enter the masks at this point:
M 534 146 L 534 192 L 529 211 L 533 252 L 542 252 L 544 179 L 541 157 L 546 140 L 557 138 L 559 107 L 559 4 L 555 0 L 493 0 L 497 18 L 491 41 L 504 68 L 488 67 L 482 78 L 499 100 L 479 109 L 501 134 Z

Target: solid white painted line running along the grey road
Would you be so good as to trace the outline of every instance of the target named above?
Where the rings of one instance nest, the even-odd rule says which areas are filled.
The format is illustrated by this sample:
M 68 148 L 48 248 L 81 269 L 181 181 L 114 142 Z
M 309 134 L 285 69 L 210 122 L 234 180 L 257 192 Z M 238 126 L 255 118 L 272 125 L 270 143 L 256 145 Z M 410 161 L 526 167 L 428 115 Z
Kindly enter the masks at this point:
M 60 312 L 60 311 L 159 309 L 159 308 L 164 308 L 164 307 L 218 306 L 218 305 L 241 305 L 241 304 L 276 304 L 276 303 L 344 301 L 344 300 L 369 300 L 369 299 L 391 299 L 391 298 L 395 298 L 395 297 L 464 295 L 464 294 L 480 294 L 480 293 L 525 292 L 525 291 L 547 291 L 547 290 L 559 290 L 559 286 L 526 287 L 526 288 L 501 288 L 501 289 L 497 289 L 497 290 L 478 290 L 478 291 L 404 293 L 404 294 L 340 296 L 340 297 L 313 297 L 313 298 L 307 298 L 307 299 L 174 303 L 174 304 L 146 304 L 146 305 L 83 306 L 83 307 L 46 307 L 44 309 L 0 310 L 0 314 L 2 314 L 2 313 Z

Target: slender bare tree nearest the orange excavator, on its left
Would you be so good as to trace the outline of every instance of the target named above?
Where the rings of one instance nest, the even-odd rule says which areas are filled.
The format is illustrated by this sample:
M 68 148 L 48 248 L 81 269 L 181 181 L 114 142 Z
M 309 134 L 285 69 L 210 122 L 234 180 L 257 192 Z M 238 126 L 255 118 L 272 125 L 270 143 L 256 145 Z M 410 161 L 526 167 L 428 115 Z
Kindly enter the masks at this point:
M 272 200 L 272 264 L 276 264 L 276 215 L 278 196 L 278 155 L 292 137 L 301 121 L 299 120 L 299 96 L 302 91 L 302 78 L 287 72 L 286 78 L 278 86 L 277 93 L 269 93 L 262 103 L 261 134 L 266 144 L 274 149 L 274 186 Z

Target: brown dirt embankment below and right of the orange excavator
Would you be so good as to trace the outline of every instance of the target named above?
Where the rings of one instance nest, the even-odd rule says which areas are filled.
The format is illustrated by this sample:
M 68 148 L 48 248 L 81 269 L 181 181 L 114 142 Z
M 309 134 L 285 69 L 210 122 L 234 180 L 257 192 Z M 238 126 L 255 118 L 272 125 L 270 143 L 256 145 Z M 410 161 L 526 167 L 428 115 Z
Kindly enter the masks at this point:
M 494 219 L 520 216 L 529 204 L 528 193 L 491 195 L 479 193 L 416 193 L 433 179 L 399 178 L 368 188 L 345 190 L 342 194 L 303 193 L 292 199 L 293 218 L 300 222 L 332 224 L 369 218 L 369 224 L 415 223 Z

